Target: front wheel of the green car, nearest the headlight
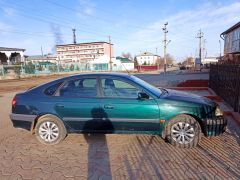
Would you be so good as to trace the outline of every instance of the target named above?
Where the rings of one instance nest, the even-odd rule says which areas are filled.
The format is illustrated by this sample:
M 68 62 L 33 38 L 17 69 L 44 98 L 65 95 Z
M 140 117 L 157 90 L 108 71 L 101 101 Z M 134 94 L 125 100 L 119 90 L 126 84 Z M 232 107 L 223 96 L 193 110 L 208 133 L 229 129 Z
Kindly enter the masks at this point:
M 183 130 L 185 127 L 185 130 Z M 184 133 L 181 133 L 181 129 Z M 187 131 L 187 132 L 186 132 Z M 165 128 L 165 140 L 180 148 L 196 147 L 201 140 L 201 127 L 192 116 L 182 114 L 174 117 Z

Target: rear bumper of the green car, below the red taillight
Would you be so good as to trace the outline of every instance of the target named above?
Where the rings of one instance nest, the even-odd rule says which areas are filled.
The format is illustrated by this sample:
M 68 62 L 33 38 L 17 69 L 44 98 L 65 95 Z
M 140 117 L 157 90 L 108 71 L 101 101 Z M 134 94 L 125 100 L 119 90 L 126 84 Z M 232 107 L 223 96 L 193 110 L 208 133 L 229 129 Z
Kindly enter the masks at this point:
M 26 115 L 26 114 L 14 114 L 11 113 L 9 115 L 13 127 L 15 128 L 22 128 L 26 130 L 31 129 L 32 122 L 37 117 L 36 115 Z

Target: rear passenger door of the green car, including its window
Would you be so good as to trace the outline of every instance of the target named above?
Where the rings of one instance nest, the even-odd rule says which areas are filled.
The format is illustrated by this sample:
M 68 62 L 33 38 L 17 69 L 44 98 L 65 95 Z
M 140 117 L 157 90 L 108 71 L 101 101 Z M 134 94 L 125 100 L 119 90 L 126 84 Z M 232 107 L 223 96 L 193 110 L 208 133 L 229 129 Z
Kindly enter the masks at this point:
M 69 80 L 56 94 L 55 111 L 72 130 L 98 131 L 103 114 L 98 95 L 96 77 Z

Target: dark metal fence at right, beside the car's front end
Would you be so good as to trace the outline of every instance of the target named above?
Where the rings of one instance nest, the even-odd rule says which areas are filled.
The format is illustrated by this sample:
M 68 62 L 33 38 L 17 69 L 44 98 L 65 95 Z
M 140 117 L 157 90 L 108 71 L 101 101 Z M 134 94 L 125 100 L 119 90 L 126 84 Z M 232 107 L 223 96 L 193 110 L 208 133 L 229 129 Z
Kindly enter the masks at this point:
M 209 87 L 240 112 L 240 65 L 211 64 Z

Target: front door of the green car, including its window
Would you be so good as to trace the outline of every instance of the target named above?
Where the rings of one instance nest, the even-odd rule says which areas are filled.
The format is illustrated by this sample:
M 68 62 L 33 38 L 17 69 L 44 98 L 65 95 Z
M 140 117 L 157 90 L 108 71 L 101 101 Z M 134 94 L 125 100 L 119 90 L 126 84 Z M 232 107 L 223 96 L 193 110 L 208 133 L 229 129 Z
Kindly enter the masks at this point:
M 159 108 L 153 98 L 138 99 L 143 91 L 124 79 L 101 78 L 101 108 L 115 131 L 159 131 Z

